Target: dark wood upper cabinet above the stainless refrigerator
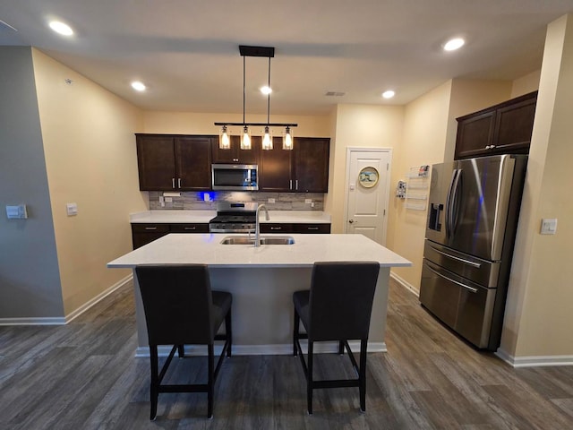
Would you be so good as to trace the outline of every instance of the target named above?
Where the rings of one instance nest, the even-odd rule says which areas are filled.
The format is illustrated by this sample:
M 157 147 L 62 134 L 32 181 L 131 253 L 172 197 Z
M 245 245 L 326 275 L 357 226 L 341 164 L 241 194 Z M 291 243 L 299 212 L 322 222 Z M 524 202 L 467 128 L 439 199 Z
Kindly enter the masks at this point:
M 455 159 L 529 152 L 537 91 L 460 116 Z

